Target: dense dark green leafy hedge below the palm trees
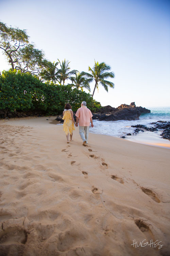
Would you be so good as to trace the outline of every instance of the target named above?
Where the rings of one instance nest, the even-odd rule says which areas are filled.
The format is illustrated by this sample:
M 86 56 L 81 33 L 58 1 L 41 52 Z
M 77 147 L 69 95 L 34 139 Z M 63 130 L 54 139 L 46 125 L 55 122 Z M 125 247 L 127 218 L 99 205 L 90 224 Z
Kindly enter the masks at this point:
M 100 102 L 92 99 L 85 91 L 72 89 L 71 85 L 43 83 L 30 73 L 17 70 L 3 71 L 0 75 L 0 110 L 44 111 L 46 114 L 61 114 L 66 103 L 76 111 L 81 102 L 95 112 L 101 108 Z

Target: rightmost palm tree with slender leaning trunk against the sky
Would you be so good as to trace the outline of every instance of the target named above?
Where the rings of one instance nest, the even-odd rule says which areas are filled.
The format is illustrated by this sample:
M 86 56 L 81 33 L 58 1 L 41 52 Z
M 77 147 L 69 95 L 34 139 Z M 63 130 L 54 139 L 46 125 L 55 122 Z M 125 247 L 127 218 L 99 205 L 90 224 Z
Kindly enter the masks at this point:
M 95 88 L 94 88 L 92 97 L 94 96 L 95 89 L 96 88 L 98 89 L 99 84 L 101 84 L 107 92 L 108 92 L 108 86 L 111 88 L 114 88 L 115 86 L 114 83 L 105 80 L 108 77 L 111 77 L 111 78 L 115 77 L 114 72 L 107 72 L 110 69 L 111 67 L 107 66 L 104 62 L 99 63 L 95 61 L 95 66 L 92 69 L 88 67 L 88 70 L 90 71 L 91 74 L 82 72 L 83 75 L 91 79 L 91 81 L 92 80 L 95 81 Z

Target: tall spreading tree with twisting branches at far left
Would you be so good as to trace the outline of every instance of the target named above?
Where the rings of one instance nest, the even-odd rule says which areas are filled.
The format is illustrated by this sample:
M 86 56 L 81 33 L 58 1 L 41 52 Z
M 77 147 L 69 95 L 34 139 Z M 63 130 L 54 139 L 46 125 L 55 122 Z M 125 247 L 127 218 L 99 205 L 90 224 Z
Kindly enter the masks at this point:
M 11 64 L 12 70 L 38 74 L 46 66 L 44 53 L 29 43 L 27 31 L 7 27 L 0 22 L 0 49 Z

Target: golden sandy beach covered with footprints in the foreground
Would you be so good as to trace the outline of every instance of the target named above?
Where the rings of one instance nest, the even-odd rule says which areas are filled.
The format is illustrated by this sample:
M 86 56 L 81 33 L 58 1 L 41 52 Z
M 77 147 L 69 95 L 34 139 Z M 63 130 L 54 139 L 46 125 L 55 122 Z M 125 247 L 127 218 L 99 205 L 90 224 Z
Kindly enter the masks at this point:
M 0 120 L 0 256 L 170 255 L 170 150 L 53 119 Z

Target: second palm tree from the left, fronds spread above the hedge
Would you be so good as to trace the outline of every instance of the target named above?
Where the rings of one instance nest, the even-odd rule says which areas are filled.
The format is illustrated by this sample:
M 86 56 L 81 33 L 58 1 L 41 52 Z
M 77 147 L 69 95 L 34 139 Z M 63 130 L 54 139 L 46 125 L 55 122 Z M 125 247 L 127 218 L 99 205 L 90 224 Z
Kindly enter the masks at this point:
M 71 75 L 75 75 L 77 70 L 70 70 L 69 67 L 69 63 L 68 60 L 64 59 L 64 61 L 62 60 L 62 64 L 60 62 L 60 60 L 58 59 L 59 63 L 60 63 L 60 67 L 61 69 L 59 69 L 58 71 L 58 80 L 60 81 L 60 83 L 63 81 L 63 85 L 65 80 L 70 79 Z

